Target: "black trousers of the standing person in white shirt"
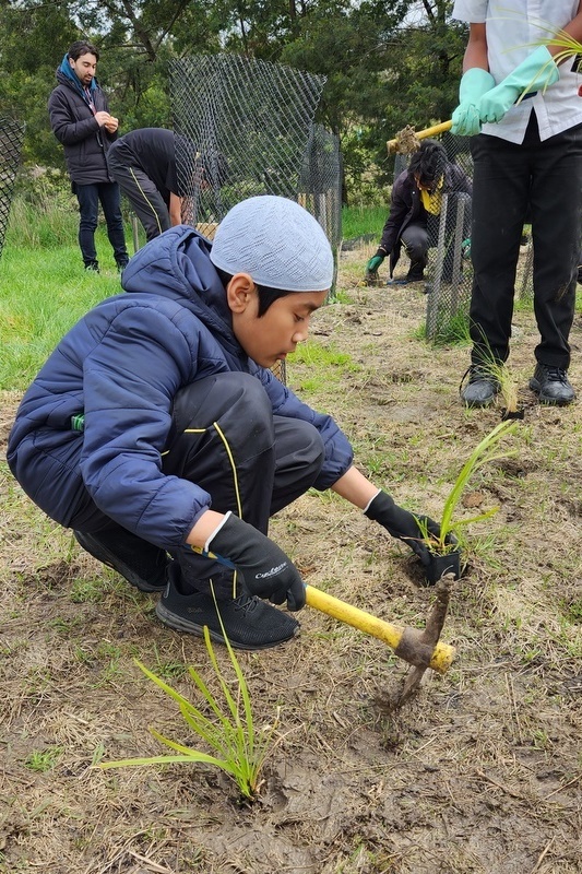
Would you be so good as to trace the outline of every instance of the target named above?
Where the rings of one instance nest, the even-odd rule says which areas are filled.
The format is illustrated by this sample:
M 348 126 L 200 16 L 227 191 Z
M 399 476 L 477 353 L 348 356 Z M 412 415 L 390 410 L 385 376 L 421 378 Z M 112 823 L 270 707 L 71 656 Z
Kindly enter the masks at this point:
M 568 368 L 582 220 L 582 126 L 539 141 L 535 114 L 522 144 L 473 138 L 472 362 L 509 355 L 523 224 L 532 224 L 536 359 Z

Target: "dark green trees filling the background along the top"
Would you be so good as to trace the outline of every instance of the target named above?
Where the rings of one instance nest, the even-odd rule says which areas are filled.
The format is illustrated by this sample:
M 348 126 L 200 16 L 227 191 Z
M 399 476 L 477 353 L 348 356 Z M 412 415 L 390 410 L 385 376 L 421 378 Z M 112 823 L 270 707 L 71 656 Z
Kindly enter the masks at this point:
M 448 0 L 0 0 L 1 113 L 26 122 L 28 167 L 63 169 L 47 99 L 74 39 L 99 48 L 122 130 L 171 126 L 173 58 L 281 62 L 326 76 L 317 120 L 340 137 L 346 198 L 369 203 L 392 169 L 385 141 L 454 108 L 465 31 L 451 10 Z

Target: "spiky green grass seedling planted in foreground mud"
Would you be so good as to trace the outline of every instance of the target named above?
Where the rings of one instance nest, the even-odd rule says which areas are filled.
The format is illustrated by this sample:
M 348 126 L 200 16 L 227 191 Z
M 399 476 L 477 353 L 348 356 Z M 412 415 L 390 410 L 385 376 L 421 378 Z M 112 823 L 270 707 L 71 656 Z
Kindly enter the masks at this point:
M 204 704 L 211 712 L 210 717 L 206 716 L 201 708 L 193 705 L 180 695 L 179 692 L 165 683 L 162 677 L 157 676 L 153 671 L 150 671 L 142 662 L 134 659 L 135 664 L 143 671 L 145 676 L 177 702 L 186 724 L 199 739 L 204 741 L 213 751 L 213 754 L 185 746 L 169 737 L 165 737 L 155 729 L 150 728 L 151 733 L 157 741 L 175 751 L 174 755 L 102 761 L 95 767 L 107 769 L 124 768 L 133 765 L 169 765 L 177 763 L 191 765 L 194 763 L 202 763 L 205 765 L 213 765 L 231 777 L 238 786 L 242 801 L 253 801 L 258 796 L 262 784 L 261 775 L 264 761 L 268 756 L 272 754 L 281 740 L 281 735 L 277 734 L 275 736 L 278 725 L 278 708 L 272 724 L 258 730 L 252 717 L 249 688 L 235 656 L 235 651 L 226 637 L 222 619 L 221 627 L 228 656 L 236 674 L 235 689 L 230 690 L 219 669 L 207 627 L 204 627 L 204 642 L 212 668 L 222 689 L 224 702 L 221 702 L 213 695 L 201 674 L 194 668 L 188 666 L 187 669 L 191 680 L 201 693 Z

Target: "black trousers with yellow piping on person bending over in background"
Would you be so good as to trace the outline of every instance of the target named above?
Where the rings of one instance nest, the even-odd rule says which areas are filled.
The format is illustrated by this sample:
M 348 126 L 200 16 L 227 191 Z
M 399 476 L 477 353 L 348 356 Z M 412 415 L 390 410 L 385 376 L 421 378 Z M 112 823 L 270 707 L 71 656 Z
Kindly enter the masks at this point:
M 170 220 L 164 198 L 147 174 L 132 164 L 132 156 L 126 153 L 122 143 L 109 150 L 107 166 L 142 223 L 147 241 L 167 231 Z

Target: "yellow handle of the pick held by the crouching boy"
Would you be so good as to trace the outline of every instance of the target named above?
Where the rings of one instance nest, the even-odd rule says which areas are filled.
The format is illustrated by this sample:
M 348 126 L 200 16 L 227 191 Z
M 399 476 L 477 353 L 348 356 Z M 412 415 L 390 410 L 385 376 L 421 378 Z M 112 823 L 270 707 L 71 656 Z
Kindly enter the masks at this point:
M 431 668 L 440 674 L 447 673 L 454 659 L 454 647 L 449 643 L 443 643 L 440 640 L 435 646 L 427 645 L 423 640 L 423 635 L 415 628 L 402 628 L 397 625 L 392 625 L 389 622 L 379 619 L 365 610 L 354 607 L 352 604 L 346 604 L 345 601 L 340 601 L 321 589 L 314 589 L 312 586 L 306 586 L 306 603 L 310 607 L 325 613 L 328 616 L 333 616 L 335 619 L 351 625 L 353 628 L 358 628 L 367 635 L 377 637 L 383 640 L 395 654 L 409 664 L 415 664 L 418 668 Z

